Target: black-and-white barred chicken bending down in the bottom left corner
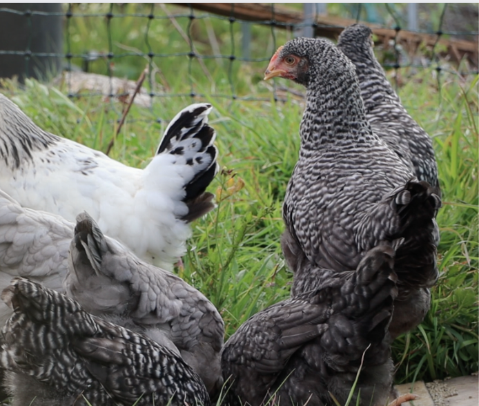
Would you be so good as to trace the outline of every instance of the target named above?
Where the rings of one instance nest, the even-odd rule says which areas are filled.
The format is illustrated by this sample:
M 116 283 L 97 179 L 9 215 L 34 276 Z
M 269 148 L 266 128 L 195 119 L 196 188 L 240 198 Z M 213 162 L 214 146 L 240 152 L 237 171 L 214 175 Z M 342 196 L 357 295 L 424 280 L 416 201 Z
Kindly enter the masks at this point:
M 195 371 L 157 342 L 24 278 L 1 298 L 14 312 L 0 338 L 13 406 L 211 405 Z

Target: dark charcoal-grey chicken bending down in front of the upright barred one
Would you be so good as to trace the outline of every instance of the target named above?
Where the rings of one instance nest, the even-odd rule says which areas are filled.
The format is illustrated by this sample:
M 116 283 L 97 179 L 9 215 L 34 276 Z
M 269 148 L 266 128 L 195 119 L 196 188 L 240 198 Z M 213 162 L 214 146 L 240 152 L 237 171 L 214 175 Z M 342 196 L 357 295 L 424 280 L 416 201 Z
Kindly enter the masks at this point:
M 226 404 L 332 405 L 331 393 L 344 405 L 361 364 L 351 404 L 358 393 L 360 405 L 395 398 L 387 331 L 397 293 L 393 255 L 375 247 L 355 271 L 331 272 L 317 289 L 239 327 L 222 354 Z

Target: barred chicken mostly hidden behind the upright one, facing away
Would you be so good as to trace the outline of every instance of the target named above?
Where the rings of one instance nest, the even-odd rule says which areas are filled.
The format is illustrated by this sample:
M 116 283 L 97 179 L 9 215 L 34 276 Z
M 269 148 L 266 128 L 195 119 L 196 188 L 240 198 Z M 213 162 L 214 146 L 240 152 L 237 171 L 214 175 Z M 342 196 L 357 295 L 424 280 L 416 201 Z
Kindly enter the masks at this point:
M 356 68 L 366 118 L 373 132 L 406 162 L 418 180 L 439 188 L 431 138 L 407 113 L 389 84 L 374 56 L 372 34 L 371 28 L 353 24 L 338 40 L 338 48 Z

